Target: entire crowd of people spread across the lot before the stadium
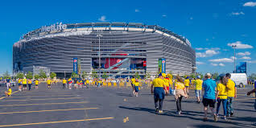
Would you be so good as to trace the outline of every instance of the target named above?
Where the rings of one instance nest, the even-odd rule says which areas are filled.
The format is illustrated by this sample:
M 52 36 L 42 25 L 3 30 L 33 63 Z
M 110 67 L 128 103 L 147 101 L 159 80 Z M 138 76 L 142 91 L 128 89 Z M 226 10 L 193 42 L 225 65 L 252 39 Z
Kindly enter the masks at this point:
M 227 73 L 225 76 L 221 76 L 220 81 L 213 81 L 211 74 L 207 73 L 204 78 L 201 76 L 196 76 L 196 79 L 190 79 L 189 76 L 186 76 L 185 79 L 181 76 L 174 77 L 171 74 L 159 73 L 159 76 L 155 78 L 153 81 L 144 81 L 151 83 L 151 93 L 154 94 L 155 101 L 155 112 L 162 114 L 163 113 L 163 100 L 167 95 L 173 95 L 175 97 L 176 103 L 176 114 L 182 114 L 182 100 L 183 98 L 189 97 L 189 88 L 194 86 L 196 93 L 196 102 L 200 104 L 200 102 L 204 105 L 204 121 L 208 120 L 208 109 L 211 110 L 214 121 L 217 122 L 219 117 L 219 111 L 223 108 L 223 119 L 226 120 L 227 117 L 233 116 L 233 100 L 237 97 L 237 88 L 235 82 L 231 79 L 231 74 Z M 5 91 L 6 97 L 10 97 L 12 90 L 10 86 L 11 79 L 8 77 L 6 82 L 7 91 Z M 138 97 L 138 92 L 142 86 L 142 80 L 132 77 L 129 79 L 81 79 L 81 78 L 68 78 L 61 79 L 59 82 L 62 82 L 63 89 L 82 89 L 89 88 L 89 85 L 96 85 L 97 87 L 101 87 L 102 83 L 105 82 L 127 82 L 131 84 L 133 94 L 135 97 Z M 28 90 L 31 90 L 31 86 L 35 85 L 35 89 L 39 89 L 39 80 L 32 81 L 31 79 L 23 79 L 17 80 L 19 84 L 19 91 L 26 91 L 27 85 Z M 56 84 L 56 80 L 52 80 L 50 78 L 47 79 L 47 89 L 51 89 L 53 84 Z M 254 89 L 247 93 L 250 95 L 251 93 L 256 93 L 256 85 L 254 85 Z M 204 91 L 203 98 L 202 91 Z M 217 109 L 215 109 L 215 105 L 217 102 Z M 256 100 L 255 105 L 256 109 Z

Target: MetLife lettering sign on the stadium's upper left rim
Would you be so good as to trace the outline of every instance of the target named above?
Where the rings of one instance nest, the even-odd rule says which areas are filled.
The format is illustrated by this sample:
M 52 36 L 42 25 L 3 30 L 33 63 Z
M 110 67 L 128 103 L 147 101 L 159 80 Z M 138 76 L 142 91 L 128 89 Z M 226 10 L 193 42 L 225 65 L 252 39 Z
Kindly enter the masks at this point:
M 52 24 L 50 27 L 43 26 L 41 27 L 40 31 L 41 32 L 63 31 L 66 28 L 67 28 L 67 24 L 56 23 L 56 24 Z

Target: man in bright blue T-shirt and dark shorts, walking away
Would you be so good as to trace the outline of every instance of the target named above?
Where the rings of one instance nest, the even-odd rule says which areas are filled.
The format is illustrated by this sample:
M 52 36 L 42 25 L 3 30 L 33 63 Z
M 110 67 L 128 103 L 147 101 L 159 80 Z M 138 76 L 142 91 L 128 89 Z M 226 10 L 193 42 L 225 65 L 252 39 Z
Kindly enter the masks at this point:
M 211 109 L 214 121 L 217 122 L 217 114 L 214 113 L 214 106 L 215 106 L 215 90 L 217 88 L 216 82 L 211 79 L 211 74 L 207 73 L 205 75 L 205 81 L 202 85 L 204 96 L 203 96 L 203 104 L 204 104 L 204 121 L 207 121 L 207 114 L 208 114 L 208 106 Z

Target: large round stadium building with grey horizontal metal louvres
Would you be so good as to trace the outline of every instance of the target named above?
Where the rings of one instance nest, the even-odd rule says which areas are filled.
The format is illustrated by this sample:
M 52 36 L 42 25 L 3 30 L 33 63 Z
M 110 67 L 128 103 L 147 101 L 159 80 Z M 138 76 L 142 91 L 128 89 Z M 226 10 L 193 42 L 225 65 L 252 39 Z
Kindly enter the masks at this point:
M 28 32 L 13 45 L 14 72 L 33 72 L 41 66 L 63 77 L 73 72 L 74 58 L 80 59 L 81 71 L 109 76 L 155 74 L 160 58 L 166 60 L 166 72 L 196 70 L 188 39 L 142 23 L 56 23 Z

